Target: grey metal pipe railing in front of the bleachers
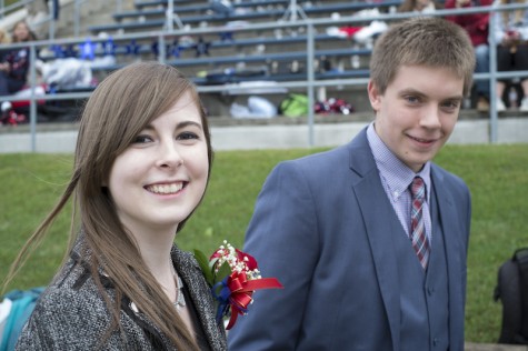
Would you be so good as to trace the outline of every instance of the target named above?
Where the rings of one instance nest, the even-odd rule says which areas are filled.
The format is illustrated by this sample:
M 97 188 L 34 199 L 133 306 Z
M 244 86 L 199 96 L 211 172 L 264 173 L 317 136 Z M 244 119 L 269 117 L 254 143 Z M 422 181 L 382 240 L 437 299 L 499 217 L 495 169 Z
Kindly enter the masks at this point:
M 169 1 L 170 2 L 170 1 Z M 489 7 L 476 7 L 470 9 L 456 9 L 456 10 L 437 10 L 431 13 L 427 13 L 427 16 L 435 16 L 435 17 L 446 17 L 446 16 L 459 16 L 459 14 L 469 14 L 469 13 L 482 13 L 482 12 L 490 12 L 489 19 L 489 49 L 490 49 L 490 67 L 488 73 L 476 73 L 474 76 L 475 80 L 488 80 L 489 88 L 490 88 L 490 111 L 489 111 L 489 142 L 496 143 L 498 140 L 498 113 L 497 113 L 497 103 L 496 99 L 496 82 L 498 79 L 518 79 L 521 77 L 528 77 L 528 71 L 509 71 L 509 72 L 498 72 L 497 71 L 497 60 L 496 60 L 496 47 L 497 42 L 492 32 L 495 28 L 495 12 L 500 11 L 512 11 L 518 9 L 528 9 L 528 4 L 525 3 L 511 3 L 506 6 L 489 6 Z M 285 82 L 277 82 L 277 87 L 281 88 L 289 88 L 296 90 L 306 89 L 308 96 L 308 106 L 312 107 L 315 104 L 315 89 L 322 88 L 322 87 L 338 87 L 338 86 L 366 86 L 368 83 L 368 78 L 347 78 L 347 79 L 328 79 L 328 80 L 318 80 L 315 78 L 315 33 L 316 28 L 321 26 L 353 26 L 355 23 L 368 23 L 373 20 L 377 21 L 386 21 L 388 23 L 393 21 L 404 20 L 410 17 L 416 17 L 416 13 L 381 13 L 376 17 L 341 17 L 339 19 L 310 19 L 303 18 L 298 19 L 297 21 L 288 21 L 288 22 L 272 22 L 272 23 L 255 23 L 248 24 L 243 28 L 229 28 L 229 31 L 238 32 L 238 31 L 262 31 L 262 30 L 273 30 L 273 29 L 286 29 L 286 28 L 306 28 L 307 40 L 306 40 L 306 68 L 307 68 L 307 78 L 303 81 L 285 81 Z M 133 34 L 120 34 L 113 37 L 116 42 L 118 41 L 127 41 L 127 40 L 141 40 L 141 39 L 156 39 L 158 41 L 159 54 L 158 61 L 166 62 L 166 52 L 165 52 L 165 43 L 168 37 L 179 37 L 179 36 L 189 36 L 189 34 L 212 34 L 218 33 L 220 31 L 225 31 L 225 27 L 210 27 L 210 28 L 197 28 L 189 30 L 181 30 L 181 29 L 163 29 L 156 32 L 148 32 L 148 33 L 133 33 Z M 93 38 L 92 42 L 101 42 L 104 39 L 97 39 Z M 76 93 L 54 93 L 54 94 L 37 94 L 36 87 L 37 87 L 37 72 L 36 72 L 36 60 L 37 60 L 37 50 L 41 47 L 51 47 L 51 46 L 68 46 L 68 44 L 81 44 L 86 41 L 86 38 L 73 38 L 73 39 L 56 39 L 56 40 L 41 40 L 41 41 L 33 41 L 27 43 L 18 43 L 18 44 L 10 44 L 6 46 L 6 49 L 14 49 L 14 48 L 30 48 L 30 86 L 31 86 L 31 93 L 30 97 L 24 98 L 14 98 L 13 96 L 9 97 L 0 97 L 0 102 L 3 101 L 30 101 L 30 133 L 31 133 L 31 150 L 36 151 L 36 136 L 37 136 L 37 101 L 44 100 L 44 101 L 52 101 L 52 100 L 82 100 L 90 97 L 90 92 L 76 92 Z M 209 93 L 209 92 L 223 92 L 226 91 L 226 86 L 207 86 L 198 87 L 198 91 L 200 93 Z M 230 91 L 237 91 L 240 89 L 242 91 L 247 88 L 240 88 L 236 84 L 230 84 Z M 308 109 L 307 116 L 307 123 L 308 123 L 308 146 L 315 144 L 315 112 L 313 109 Z

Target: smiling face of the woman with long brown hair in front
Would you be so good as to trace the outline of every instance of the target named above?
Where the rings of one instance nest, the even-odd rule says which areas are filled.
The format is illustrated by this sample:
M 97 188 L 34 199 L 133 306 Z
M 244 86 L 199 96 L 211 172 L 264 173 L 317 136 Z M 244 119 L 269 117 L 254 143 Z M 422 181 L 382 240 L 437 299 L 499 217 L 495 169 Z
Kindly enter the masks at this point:
M 135 235 L 169 230 L 200 202 L 209 173 L 200 110 L 185 93 L 117 157 L 108 188 L 123 225 Z

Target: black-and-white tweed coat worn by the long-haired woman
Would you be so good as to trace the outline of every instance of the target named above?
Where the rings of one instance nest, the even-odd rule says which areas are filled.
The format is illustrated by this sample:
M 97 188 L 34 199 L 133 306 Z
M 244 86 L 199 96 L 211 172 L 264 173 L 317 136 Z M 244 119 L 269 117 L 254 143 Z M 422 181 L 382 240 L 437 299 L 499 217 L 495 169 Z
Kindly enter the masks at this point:
M 203 349 L 227 350 L 226 332 L 215 320 L 215 304 L 209 287 L 195 258 L 172 248 L 175 268 L 187 285 L 203 330 Z M 101 277 L 110 297 L 111 282 Z M 127 298 L 121 305 L 124 335 L 113 332 L 101 350 L 175 350 L 175 347 Z M 70 259 L 42 293 L 24 325 L 17 344 L 28 350 L 94 350 L 110 322 L 103 298 L 89 271 Z

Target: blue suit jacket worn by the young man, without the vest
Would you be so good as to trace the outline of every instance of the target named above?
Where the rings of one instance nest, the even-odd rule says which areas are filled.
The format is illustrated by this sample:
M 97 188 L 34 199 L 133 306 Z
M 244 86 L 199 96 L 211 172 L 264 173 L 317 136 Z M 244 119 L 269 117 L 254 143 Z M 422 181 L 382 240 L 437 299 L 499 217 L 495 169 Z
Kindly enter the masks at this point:
M 464 350 L 470 195 L 435 164 L 431 178 L 446 237 L 450 350 Z M 229 332 L 229 350 L 399 350 L 391 240 L 401 232 L 365 130 L 343 147 L 278 164 L 245 250 L 285 289 L 255 293 Z

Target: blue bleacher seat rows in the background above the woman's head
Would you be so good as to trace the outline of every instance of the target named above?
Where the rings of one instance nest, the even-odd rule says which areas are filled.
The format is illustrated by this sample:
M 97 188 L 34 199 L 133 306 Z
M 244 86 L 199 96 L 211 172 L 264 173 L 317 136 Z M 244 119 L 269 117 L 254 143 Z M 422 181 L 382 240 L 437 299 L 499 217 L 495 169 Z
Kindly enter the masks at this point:
M 177 36 L 165 36 L 165 62 L 182 69 L 198 86 L 237 84 L 245 82 L 289 82 L 308 80 L 307 40 L 302 24 L 295 28 L 277 29 L 273 26 L 251 30 L 252 23 L 271 24 L 278 19 L 286 20 L 289 0 L 252 0 L 232 1 L 236 9 L 232 14 L 213 13 L 209 1 L 176 0 L 175 13 L 189 28 L 189 31 L 178 31 Z M 309 18 L 328 18 L 328 22 L 316 27 L 313 62 L 316 80 L 335 80 L 347 78 L 367 78 L 368 69 L 356 67 L 351 58 L 362 58 L 368 61 L 371 47 L 355 42 L 350 34 L 339 36 L 327 33 L 332 26 L 331 16 L 351 16 L 365 9 L 387 11 L 397 7 L 401 0 L 387 0 L 367 3 L 365 1 L 310 1 L 298 0 L 302 11 Z M 114 13 L 114 23 L 90 27 L 93 34 L 107 32 L 113 37 L 111 50 L 104 40 L 93 39 L 93 57 L 96 59 L 111 54 L 114 62 L 93 66 L 94 77 L 103 78 L 113 70 L 137 60 L 158 60 L 158 36 L 148 34 L 152 30 L 160 33 L 166 26 L 167 1 L 137 1 L 135 11 Z M 291 14 L 291 13 L 290 13 Z M 238 22 L 239 21 L 239 22 Z M 215 27 L 218 31 L 197 33 L 195 26 Z M 235 22 L 235 28 L 229 24 Z M 243 27 L 249 27 L 245 29 Z M 358 24 L 360 26 L 360 24 Z M 130 32 L 129 32 L 130 31 Z M 118 32 L 116 36 L 113 32 Z M 120 33 L 127 32 L 124 39 Z M 131 36 L 137 32 L 136 36 Z M 280 32 L 280 33 L 279 33 Z M 185 42 L 183 37 L 190 37 Z M 183 41 L 183 43 L 181 42 Z M 70 44 L 63 48 L 67 56 L 80 58 L 86 42 Z M 41 54 L 42 60 L 52 60 L 60 50 Z M 92 58 L 93 59 L 93 58 Z M 293 68 L 293 63 L 296 64 Z M 311 66 L 310 66 L 311 67 Z M 82 91 L 94 89 L 86 87 Z M 60 91 L 59 91 L 60 92 Z M 64 92 L 64 91 L 62 91 Z M 74 92 L 74 90 L 68 91 Z

